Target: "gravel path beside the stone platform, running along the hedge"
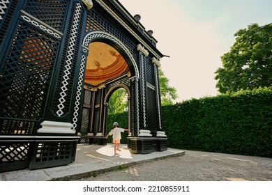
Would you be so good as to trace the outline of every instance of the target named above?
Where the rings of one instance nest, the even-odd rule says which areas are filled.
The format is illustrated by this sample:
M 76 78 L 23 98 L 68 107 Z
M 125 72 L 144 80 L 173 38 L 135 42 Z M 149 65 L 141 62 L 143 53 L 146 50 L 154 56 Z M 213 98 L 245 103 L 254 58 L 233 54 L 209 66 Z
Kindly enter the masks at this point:
M 180 157 L 145 162 L 82 181 L 272 181 L 272 158 L 185 152 Z

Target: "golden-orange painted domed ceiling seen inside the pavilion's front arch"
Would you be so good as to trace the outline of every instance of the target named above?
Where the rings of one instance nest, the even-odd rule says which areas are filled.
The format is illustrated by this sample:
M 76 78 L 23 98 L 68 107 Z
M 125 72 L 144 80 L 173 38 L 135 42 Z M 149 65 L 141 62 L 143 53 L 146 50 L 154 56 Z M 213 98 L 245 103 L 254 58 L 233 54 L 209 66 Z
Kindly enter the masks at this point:
M 128 64 L 116 49 L 103 42 L 91 42 L 86 65 L 85 84 L 98 86 L 128 70 Z

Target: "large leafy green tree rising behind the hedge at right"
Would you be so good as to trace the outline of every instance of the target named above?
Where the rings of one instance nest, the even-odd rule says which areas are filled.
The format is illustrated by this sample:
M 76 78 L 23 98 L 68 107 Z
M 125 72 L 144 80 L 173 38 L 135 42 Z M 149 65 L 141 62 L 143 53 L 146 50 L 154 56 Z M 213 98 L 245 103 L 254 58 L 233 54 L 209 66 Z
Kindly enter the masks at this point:
M 250 24 L 234 36 L 236 42 L 221 56 L 222 68 L 216 70 L 216 88 L 220 93 L 271 86 L 272 23 Z

